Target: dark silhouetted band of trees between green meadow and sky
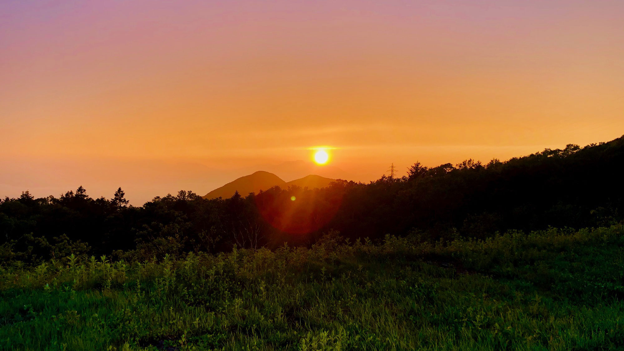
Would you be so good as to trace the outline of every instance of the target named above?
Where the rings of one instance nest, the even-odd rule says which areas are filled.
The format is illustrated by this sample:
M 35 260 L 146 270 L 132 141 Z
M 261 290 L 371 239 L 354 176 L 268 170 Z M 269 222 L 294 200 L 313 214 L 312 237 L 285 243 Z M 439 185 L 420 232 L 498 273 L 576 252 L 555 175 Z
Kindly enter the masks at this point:
M 36 263 L 70 253 L 150 259 L 238 247 L 311 245 L 324 232 L 381 239 L 417 230 L 427 240 L 484 238 L 509 229 L 594 227 L 623 219 L 624 137 L 545 149 L 487 164 L 472 159 L 374 182 L 324 189 L 274 187 L 230 199 L 193 192 L 128 205 L 92 199 L 81 186 L 60 197 L 28 191 L 0 201 L 0 259 Z

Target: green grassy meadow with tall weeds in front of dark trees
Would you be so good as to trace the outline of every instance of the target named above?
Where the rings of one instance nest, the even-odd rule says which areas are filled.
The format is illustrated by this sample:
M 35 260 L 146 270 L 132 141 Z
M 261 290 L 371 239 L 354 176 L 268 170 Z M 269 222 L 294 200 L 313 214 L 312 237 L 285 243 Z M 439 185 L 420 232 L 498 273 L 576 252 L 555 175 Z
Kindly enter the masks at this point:
M 624 350 L 624 226 L 0 268 L 2 350 Z

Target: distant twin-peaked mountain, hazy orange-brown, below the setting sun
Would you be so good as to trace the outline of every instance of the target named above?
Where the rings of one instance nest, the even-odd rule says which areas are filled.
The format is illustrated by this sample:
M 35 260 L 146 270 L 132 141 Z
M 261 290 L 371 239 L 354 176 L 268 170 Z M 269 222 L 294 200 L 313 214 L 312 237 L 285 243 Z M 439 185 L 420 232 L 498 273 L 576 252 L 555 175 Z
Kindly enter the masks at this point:
M 298 187 L 308 187 L 312 188 L 323 188 L 327 187 L 329 183 L 334 182 L 336 179 L 321 177 L 320 175 L 306 175 L 303 178 L 291 180 L 290 182 L 285 182 L 277 175 L 266 172 L 266 171 L 258 171 L 250 175 L 245 175 L 244 177 L 240 177 L 228 184 L 223 185 L 222 187 L 218 187 L 215 190 L 212 190 L 208 194 L 204 195 L 204 199 L 216 199 L 217 197 L 223 197 L 223 199 L 227 199 L 232 197 L 236 191 L 238 194 L 246 196 L 250 192 L 255 192 L 256 194 L 260 192 L 260 190 L 268 190 L 271 187 L 279 186 L 281 188 L 288 188 L 290 185 L 296 185 Z

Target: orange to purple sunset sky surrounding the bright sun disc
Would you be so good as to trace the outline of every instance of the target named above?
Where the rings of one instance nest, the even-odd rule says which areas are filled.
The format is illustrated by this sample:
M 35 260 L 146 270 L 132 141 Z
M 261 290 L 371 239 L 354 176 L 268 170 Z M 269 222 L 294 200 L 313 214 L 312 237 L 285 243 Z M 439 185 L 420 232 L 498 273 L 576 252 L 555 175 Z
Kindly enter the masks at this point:
M 141 205 L 609 141 L 623 24 L 621 0 L 3 0 L 0 196 Z

